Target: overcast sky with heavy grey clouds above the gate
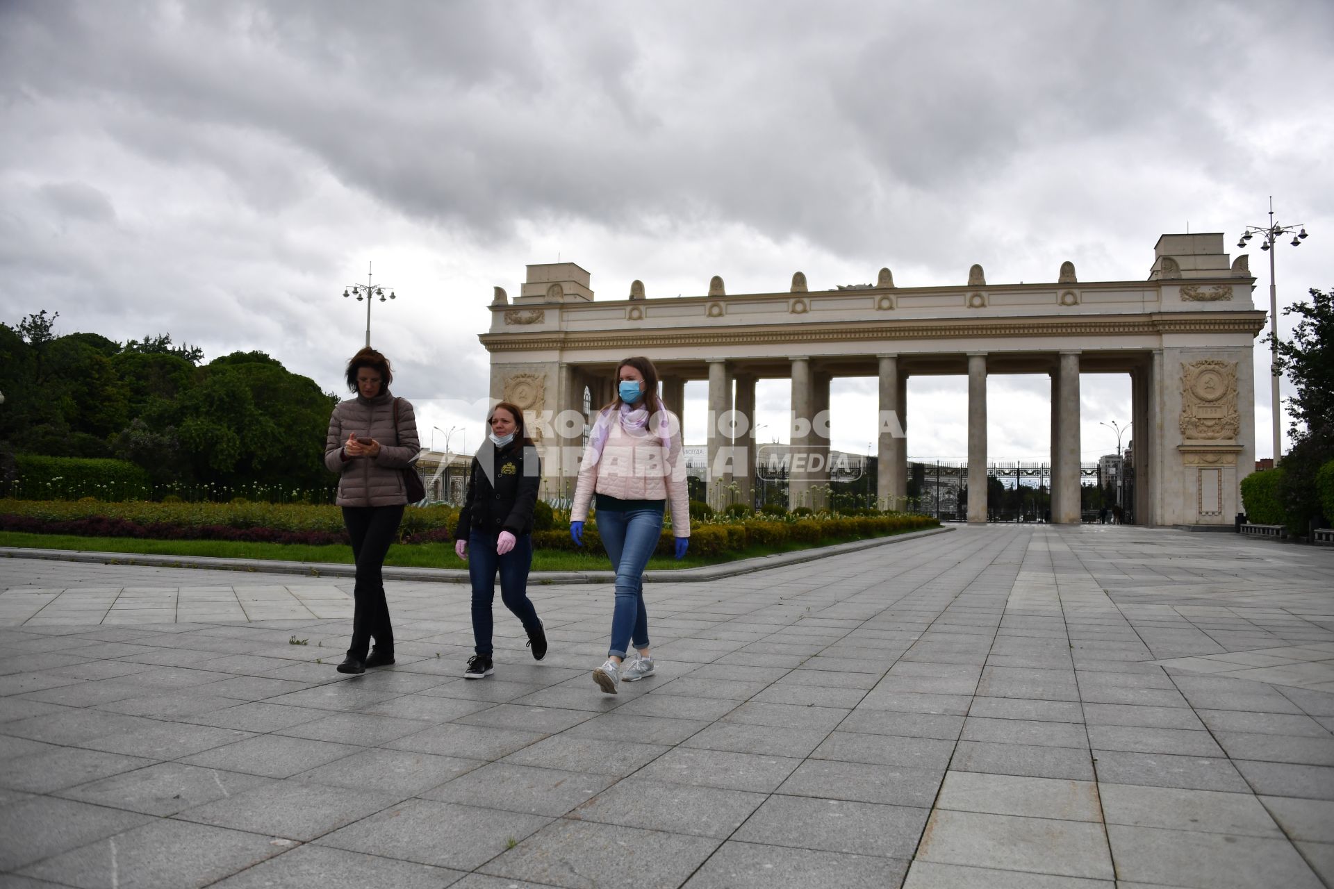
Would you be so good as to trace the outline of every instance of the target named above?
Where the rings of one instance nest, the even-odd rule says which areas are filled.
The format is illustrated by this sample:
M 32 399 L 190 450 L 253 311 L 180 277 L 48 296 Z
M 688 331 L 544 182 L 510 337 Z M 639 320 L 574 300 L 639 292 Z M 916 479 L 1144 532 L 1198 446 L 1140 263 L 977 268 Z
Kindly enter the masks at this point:
M 1334 4 L 0 3 L 0 320 L 261 349 L 343 392 L 372 339 L 479 443 L 491 288 L 564 260 L 603 299 L 1142 280 L 1163 232 L 1299 221 L 1279 304 L 1334 287 Z M 1267 264 L 1253 241 L 1257 301 Z M 1271 453 L 1257 351 L 1257 454 Z M 1045 460 L 1046 377 L 992 377 L 990 456 Z M 862 452 L 870 380 L 834 387 Z M 782 425 L 764 383 L 759 421 Z M 704 384 L 687 392 L 703 441 Z M 966 379 L 910 383 L 962 458 Z M 1083 456 L 1129 377 L 1082 380 Z M 696 428 L 698 427 L 698 428 Z M 444 436 L 436 435 L 443 448 Z M 762 437 L 768 433 L 762 431 Z

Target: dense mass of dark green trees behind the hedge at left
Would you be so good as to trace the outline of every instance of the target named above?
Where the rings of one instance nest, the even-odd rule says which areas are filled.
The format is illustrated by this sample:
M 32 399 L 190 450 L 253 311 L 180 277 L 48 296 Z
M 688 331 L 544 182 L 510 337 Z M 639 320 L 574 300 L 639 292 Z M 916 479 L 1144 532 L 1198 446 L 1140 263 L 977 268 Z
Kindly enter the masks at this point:
M 0 440 L 19 452 L 108 457 L 159 482 L 331 484 L 324 433 L 338 397 L 264 352 L 203 364 L 171 335 L 124 345 L 55 336 L 57 313 L 0 324 Z

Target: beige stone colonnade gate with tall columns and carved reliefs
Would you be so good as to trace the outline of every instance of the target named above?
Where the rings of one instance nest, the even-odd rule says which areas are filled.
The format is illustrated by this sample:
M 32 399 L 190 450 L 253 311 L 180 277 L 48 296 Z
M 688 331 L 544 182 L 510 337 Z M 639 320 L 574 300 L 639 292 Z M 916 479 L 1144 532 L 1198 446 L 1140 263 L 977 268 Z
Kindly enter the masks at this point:
M 1079 281 L 1071 263 L 1046 284 L 987 284 L 974 265 L 963 287 L 875 284 L 787 292 L 594 300 L 574 263 L 528 267 L 518 297 L 495 288 L 491 397 L 524 409 L 543 448 L 543 492 L 568 496 L 590 405 L 614 396 L 616 363 L 644 355 L 678 415 L 687 380 L 708 380 L 711 497 L 754 486 L 755 381 L 792 387 L 791 505 L 820 505 L 828 453 L 828 391 L 836 376 L 879 377 L 876 496 L 907 493 L 907 380 L 968 376 L 968 520 L 986 521 L 987 377 L 1051 376 L 1053 520 L 1079 521 L 1079 375 L 1129 373 L 1134 513 L 1149 525 L 1225 525 L 1255 465 L 1253 343 L 1263 327 L 1247 257 L 1229 261 L 1223 236 L 1163 235 L 1146 281 Z M 735 411 L 735 415 L 727 412 Z M 744 417 L 732 424 L 736 416 Z M 803 460 L 806 460 L 803 462 Z M 763 465 L 763 464 L 762 464 Z

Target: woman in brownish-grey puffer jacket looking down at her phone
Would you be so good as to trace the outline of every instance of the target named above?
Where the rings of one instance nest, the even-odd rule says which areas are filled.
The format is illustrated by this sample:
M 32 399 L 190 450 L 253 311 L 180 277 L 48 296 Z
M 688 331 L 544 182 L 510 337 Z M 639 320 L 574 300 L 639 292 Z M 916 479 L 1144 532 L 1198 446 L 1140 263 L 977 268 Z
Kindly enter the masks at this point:
M 339 403 L 324 440 L 324 465 L 339 473 L 338 505 L 352 538 L 356 608 L 352 644 L 339 673 L 364 673 L 394 662 L 394 628 L 384 601 L 382 569 L 408 502 L 403 469 L 420 450 L 412 404 L 390 393 L 390 360 L 366 348 L 347 363 L 355 399 Z M 375 650 L 367 653 L 371 638 Z

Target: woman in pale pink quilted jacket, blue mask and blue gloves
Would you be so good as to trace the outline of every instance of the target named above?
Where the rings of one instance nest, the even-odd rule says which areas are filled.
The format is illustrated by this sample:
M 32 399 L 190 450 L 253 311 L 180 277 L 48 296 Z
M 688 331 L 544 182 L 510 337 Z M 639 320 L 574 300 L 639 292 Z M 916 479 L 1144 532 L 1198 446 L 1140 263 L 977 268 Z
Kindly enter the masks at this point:
M 690 500 L 680 421 L 658 397 L 658 371 L 644 357 L 616 368 L 616 397 L 603 408 L 588 435 L 579 465 L 579 484 L 570 509 L 570 536 L 583 545 L 588 505 L 598 509 L 598 533 L 616 569 L 616 605 L 611 616 L 607 661 L 592 672 L 598 686 L 615 694 L 620 681 L 634 682 L 654 672 L 648 652 L 648 610 L 644 608 L 644 568 L 658 548 L 663 514 L 671 505 L 675 554 L 690 544 Z M 634 642 L 636 656 L 626 661 Z

